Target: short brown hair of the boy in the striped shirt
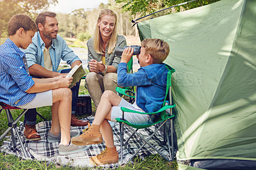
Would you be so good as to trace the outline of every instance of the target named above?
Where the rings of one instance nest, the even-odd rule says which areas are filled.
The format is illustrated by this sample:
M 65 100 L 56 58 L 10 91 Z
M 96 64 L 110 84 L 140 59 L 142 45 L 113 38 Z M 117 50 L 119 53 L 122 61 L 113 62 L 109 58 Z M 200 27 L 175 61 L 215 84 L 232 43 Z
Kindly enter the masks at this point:
M 24 31 L 37 31 L 35 22 L 26 14 L 14 15 L 8 22 L 8 35 L 15 35 L 17 30 L 23 27 Z

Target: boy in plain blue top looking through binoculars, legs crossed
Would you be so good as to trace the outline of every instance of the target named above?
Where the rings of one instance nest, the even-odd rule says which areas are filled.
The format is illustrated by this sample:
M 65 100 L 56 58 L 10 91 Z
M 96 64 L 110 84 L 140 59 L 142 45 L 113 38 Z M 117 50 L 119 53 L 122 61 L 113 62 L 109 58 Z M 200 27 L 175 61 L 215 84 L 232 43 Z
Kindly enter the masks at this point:
M 100 99 L 92 126 L 78 137 L 72 137 L 72 143 L 77 145 L 102 143 L 102 135 L 106 149 L 99 155 L 90 158 L 95 165 L 113 164 L 118 162 L 118 153 L 113 141 L 113 132 L 108 123 L 122 118 L 120 107 L 140 112 L 158 111 L 164 101 L 168 69 L 163 64 L 169 54 L 169 45 L 163 40 L 146 39 L 141 42 L 141 52 L 137 55 L 141 68 L 136 73 L 127 73 L 127 63 L 131 59 L 133 49 L 126 48 L 118 65 L 118 85 L 137 86 L 136 102 L 130 104 L 113 91 L 105 91 Z M 125 112 L 124 119 L 132 124 L 145 125 L 154 121 L 152 114 L 136 114 Z M 150 117 L 151 116 L 151 117 Z M 102 134 L 100 134 L 100 131 Z

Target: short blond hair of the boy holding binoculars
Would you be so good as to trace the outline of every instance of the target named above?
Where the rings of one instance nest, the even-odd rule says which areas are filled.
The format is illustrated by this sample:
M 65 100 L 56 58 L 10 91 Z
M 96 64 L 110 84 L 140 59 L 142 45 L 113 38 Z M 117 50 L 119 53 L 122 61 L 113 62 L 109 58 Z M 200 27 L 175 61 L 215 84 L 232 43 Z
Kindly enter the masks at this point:
M 145 47 L 145 53 L 150 54 L 153 58 L 153 63 L 163 63 L 167 58 L 170 47 L 164 40 L 158 38 L 148 38 L 141 42 L 141 46 Z

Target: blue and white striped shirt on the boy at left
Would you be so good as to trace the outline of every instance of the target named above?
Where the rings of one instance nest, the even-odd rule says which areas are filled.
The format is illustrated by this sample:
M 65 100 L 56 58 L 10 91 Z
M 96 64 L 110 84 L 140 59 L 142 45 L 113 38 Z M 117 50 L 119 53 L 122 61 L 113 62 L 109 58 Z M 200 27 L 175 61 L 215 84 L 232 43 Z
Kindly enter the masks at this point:
M 36 93 L 26 93 L 35 82 L 26 72 L 24 52 L 9 38 L 0 45 L 0 102 L 12 106 L 31 102 Z

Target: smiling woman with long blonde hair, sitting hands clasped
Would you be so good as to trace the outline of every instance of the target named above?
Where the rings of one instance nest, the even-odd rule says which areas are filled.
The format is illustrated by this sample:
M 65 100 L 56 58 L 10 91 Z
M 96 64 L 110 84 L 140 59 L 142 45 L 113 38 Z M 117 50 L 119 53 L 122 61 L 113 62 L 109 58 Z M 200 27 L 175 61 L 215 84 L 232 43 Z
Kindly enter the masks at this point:
M 87 42 L 90 73 L 86 75 L 86 85 L 96 108 L 104 91 L 115 92 L 116 70 L 121 60 L 121 56 L 115 55 L 115 49 L 124 45 L 124 36 L 117 35 L 116 13 L 109 9 L 101 10 L 95 36 Z

